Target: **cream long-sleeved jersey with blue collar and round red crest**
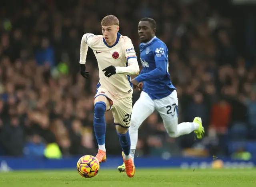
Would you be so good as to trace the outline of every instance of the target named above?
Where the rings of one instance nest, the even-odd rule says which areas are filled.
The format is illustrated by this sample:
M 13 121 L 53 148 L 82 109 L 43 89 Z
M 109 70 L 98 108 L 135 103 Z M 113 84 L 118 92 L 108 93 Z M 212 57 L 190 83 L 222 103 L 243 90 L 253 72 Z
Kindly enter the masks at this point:
M 80 64 L 85 63 L 88 46 L 98 61 L 100 86 L 116 98 L 131 97 L 133 89 L 129 75 L 138 75 L 140 69 L 130 38 L 118 33 L 115 44 L 108 46 L 102 35 L 84 34 L 81 41 Z M 102 72 L 108 66 L 116 67 L 116 74 L 110 78 Z

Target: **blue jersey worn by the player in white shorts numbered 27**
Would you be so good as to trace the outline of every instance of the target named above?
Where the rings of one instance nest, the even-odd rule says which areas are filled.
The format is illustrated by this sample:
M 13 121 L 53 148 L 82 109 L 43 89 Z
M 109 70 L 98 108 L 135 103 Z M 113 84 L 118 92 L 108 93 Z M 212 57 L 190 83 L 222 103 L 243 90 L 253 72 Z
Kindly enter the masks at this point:
M 143 91 L 151 99 L 162 99 L 176 90 L 168 73 L 168 49 L 164 42 L 155 36 L 149 42 L 141 43 L 140 61 L 143 69 L 135 79 L 143 82 Z

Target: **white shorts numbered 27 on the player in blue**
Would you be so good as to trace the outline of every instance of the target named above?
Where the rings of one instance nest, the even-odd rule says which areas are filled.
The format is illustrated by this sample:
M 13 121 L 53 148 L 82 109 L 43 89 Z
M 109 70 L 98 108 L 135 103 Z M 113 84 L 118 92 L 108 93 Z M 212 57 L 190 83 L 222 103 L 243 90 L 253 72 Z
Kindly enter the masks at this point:
M 160 113 L 166 130 L 176 133 L 178 125 L 178 97 L 176 90 L 167 97 L 154 100 L 146 92 L 141 92 L 140 98 L 132 109 L 131 125 L 140 126 L 154 110 Z

